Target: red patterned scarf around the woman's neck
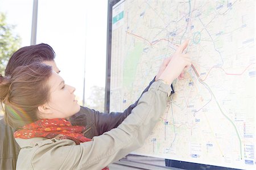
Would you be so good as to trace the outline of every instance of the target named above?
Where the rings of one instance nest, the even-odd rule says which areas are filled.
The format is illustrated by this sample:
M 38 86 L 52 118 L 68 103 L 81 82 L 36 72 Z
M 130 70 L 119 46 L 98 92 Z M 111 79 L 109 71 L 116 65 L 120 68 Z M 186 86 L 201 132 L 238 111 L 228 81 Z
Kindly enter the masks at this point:
M 30 139 L 36 137 L 44 137 L 52 139 L 56 135 L 63 135 L 61 139 L 71 139 L 79 145 L 81 142 L 92 141 L 92 139 L 84 137 L 82 131 L 84 126 L 72 126 L 71 122 L 64 118 L 41 119 L 31 124 L 25 125 L 22 129 L 15 131 L 14 138 Z M 108 170 L 106 167 L 102 170 Z

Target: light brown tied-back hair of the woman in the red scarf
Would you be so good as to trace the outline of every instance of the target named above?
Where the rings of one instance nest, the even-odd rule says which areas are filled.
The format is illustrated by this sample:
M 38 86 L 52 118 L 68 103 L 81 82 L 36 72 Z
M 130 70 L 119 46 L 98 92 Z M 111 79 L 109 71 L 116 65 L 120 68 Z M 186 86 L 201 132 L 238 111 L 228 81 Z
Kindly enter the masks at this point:
M 11 77 L 0 76 L 0 103 L 9 126 L 18 129 L 39 119 L 38 107 L 49 100 L 51 74 L 51 66 L 35 62 L 17 67 Z

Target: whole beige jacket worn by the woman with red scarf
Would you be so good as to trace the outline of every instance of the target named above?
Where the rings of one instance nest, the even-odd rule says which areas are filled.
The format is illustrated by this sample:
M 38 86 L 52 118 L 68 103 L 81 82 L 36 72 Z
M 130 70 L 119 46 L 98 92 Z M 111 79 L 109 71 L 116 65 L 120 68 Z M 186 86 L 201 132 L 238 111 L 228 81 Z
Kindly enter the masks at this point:
M 166 109 L 171 87 L 154 82 L 121 125 L 80 143 L 69 139 L 15 138 L 16 169 L 102 169 L 143 145 Z

